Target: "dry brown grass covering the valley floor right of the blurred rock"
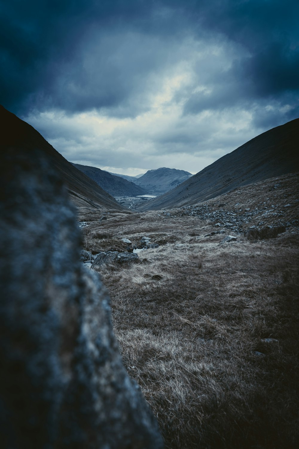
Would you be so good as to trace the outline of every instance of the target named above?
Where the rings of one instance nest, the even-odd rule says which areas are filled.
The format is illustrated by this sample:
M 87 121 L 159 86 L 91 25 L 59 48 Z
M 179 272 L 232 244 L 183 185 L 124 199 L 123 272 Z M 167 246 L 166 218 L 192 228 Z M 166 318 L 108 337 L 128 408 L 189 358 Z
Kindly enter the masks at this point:
M 299 198 L 294 184 L 290 195 L 259 185 L 258 193 L 251 185 L 238 190 L 243 196 L 223 195 L 225 203 Z M 298 207 L 286 213 L 298 218 Z M 165 447 L 298 448 L 298 228 L 219 245 L 224 235 L 205 238 L 215 228 L 196 216 L 100 216 L 79 212 L 89 251 L 126 251 L 121 238 L 137 245 L 144 235 L 160 245 L 140 252 L 137 264 L 103 265 L 100 277 L 124 364 Z

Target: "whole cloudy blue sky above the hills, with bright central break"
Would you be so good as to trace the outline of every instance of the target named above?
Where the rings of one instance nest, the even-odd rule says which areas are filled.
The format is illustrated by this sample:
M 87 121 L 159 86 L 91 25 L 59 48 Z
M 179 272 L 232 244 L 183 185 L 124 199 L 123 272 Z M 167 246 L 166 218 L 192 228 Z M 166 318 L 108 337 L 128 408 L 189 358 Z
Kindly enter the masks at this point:
M 67 160 L 197 173 L 299 117 L 298 0 L 10 0 L 0 102 Z

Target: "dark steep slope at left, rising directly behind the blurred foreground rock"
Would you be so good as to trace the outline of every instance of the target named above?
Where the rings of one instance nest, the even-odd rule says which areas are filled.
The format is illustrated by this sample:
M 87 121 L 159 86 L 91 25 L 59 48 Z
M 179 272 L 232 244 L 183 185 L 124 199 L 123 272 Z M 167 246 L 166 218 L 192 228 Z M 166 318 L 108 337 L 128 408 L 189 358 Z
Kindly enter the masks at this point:
M 59 154 L 35 128 L 19 119 L 3 106 L 0 106 L 0 123 L 2 129 L 1 150 L 7 151 L 9 148 L 16 147 L 24 149 L 27 154 L 32 154 L 32 158 L 38 154 L 46 155 L 50 164 L 60 173 L 62 180 L 69 189 L 70 198 L 76 206 L 123 209 L 95 181 L 80 172 Z

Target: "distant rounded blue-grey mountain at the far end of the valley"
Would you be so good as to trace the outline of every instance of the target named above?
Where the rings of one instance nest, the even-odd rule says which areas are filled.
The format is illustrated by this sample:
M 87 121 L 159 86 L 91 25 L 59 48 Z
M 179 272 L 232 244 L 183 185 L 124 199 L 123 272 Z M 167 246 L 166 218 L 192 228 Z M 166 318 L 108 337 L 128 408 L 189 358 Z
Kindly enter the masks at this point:
M 184 170 L 161 167 L 156 170 L 148 170 L 134 183 L 146 189 L 147 193 L 164 193 L 181 184 L 190 176 L 193 175 Z

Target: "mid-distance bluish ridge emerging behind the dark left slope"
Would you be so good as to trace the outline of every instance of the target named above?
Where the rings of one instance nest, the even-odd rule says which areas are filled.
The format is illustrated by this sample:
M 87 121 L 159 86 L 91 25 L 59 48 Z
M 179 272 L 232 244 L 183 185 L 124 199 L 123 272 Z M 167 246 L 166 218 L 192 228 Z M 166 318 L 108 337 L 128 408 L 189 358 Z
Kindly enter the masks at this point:
M 143 195 L 147 193 L 147 191 L 142 187 L 139 187 L 139 185 L 135 185 L 133 182 L 127 181 L 123 177 L 105 172 L 100 168 L 74 163 L 72 163 L 72 165 L 93 179 L 98 185 L 100 185 L 100 187 L 102 187 L 102 189 L 106 190 L 106 192 L 112 196 Z M 128 176 L 128 178 L 129 177 L 132 176 Z

